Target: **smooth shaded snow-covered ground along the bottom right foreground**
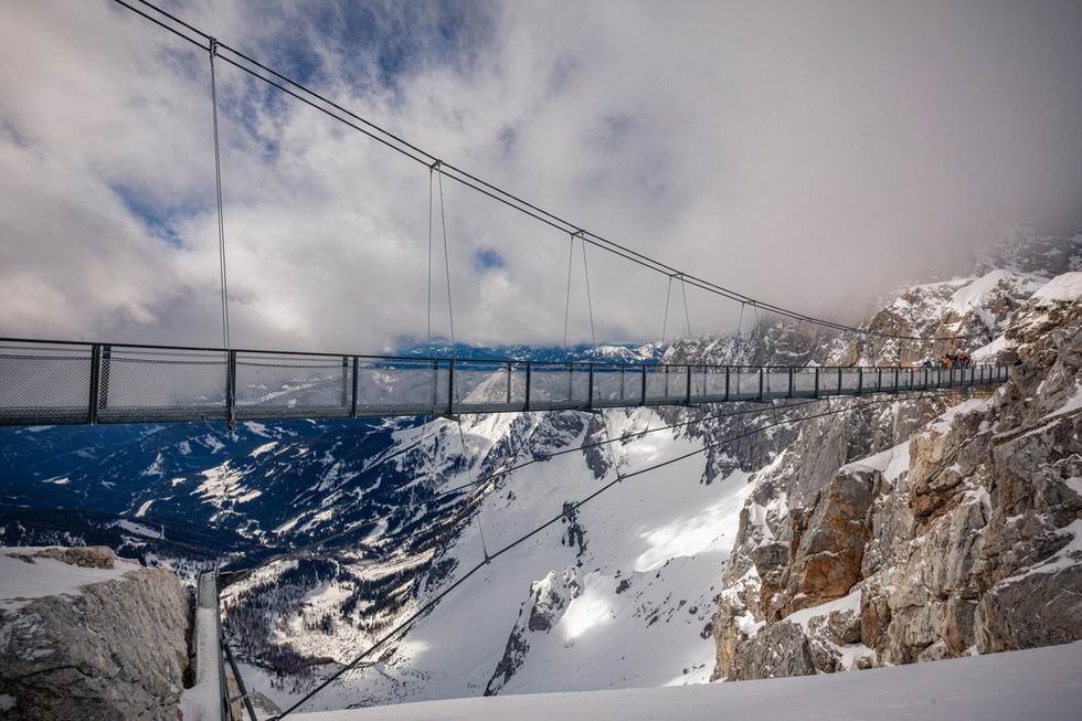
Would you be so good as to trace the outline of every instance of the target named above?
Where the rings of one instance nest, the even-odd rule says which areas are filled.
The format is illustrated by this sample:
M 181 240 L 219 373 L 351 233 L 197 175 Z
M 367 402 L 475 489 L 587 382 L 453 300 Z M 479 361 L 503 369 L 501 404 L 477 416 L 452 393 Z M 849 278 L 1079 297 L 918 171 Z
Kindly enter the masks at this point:
M 498 696 L 304 713 L 298 721 L 1074 721 L 1082 643 L 851 674 L 681 688 Z

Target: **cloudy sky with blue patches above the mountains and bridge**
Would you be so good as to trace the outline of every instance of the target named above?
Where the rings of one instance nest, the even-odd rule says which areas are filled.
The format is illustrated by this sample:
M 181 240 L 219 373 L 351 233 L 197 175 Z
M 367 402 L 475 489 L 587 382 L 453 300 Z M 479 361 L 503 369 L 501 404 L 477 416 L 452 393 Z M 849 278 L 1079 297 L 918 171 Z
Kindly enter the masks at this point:
M 839 320 L 1082 219 L 1076 0 L 166 7 L 582 227 Z M 0 335 L 220 342 L 205 53 L 107 0 L 10 0 L 0 91 Z M 423 338 L 428 170 L 221 63 L 219 91 L 233 343 Z M 559 342 L 570 238 L 444 194 L 459 340 Z M 659 338 L 666 278 L 587 253 L 598 340 Z M 577 341 L 584 299 L 576 251 Z M 693 332 L 733 328 L 688 300 Z

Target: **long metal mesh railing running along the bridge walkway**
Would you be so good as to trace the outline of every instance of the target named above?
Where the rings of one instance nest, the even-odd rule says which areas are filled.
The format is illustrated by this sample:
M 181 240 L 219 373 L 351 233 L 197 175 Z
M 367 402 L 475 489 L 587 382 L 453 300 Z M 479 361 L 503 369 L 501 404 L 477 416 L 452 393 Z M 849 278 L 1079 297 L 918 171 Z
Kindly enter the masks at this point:
M 860 395 L 1007 368 L 779 368 L 374 357 L 0 340 L 0 424 L 374 417 Z

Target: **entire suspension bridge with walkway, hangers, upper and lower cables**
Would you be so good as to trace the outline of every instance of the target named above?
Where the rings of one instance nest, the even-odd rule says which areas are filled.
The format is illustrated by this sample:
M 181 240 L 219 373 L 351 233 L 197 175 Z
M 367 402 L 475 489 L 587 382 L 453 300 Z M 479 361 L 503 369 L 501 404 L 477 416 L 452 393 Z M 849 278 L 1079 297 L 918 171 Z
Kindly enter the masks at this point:
M 276 718 L 293 714 L 315 695 L 357 667 L 374 651 L 409 632 L 412 624 L 444 596 L 455 591 L 488 563 L 512 551 L 520 543 L 554 526 L 566 513 L 591 502 L 616 484 L 643 476 L 710 448 L 722 447 L 740 438 L 762 433 L 770 427 L 800 423 L 815 417 L 850 413 L 869 405 L 893 402 L 891 396 L 915 392 L 968 390 L 988 388 L 1008 380 L 1009 369 L 999 364 L 977 363 L 961 368 L 871 367 L 777 367 L 777 365 L 712 365 L 694 363 L 608 363 L 608 362 L 542 362 L 509 358 L 475 359 L 414 356 L 371 356 L 275 351 L 237 348 L 230 331 L 230 294 L 226 272 L 226 245 L 222 192 L 222 153 L 219 137 L 219 96 L 215 63 L 240 71 L 246 77 L 276 88 L 330 119 L 367 136 L 384 147 L 405 156 L 426 168 L 428 185 L 428 285 L 427 340 L 432 337 L 433 300 L 433 226 L 435 192 L 438 190 L 438 219 L 443 235 L 444 262 L 447 276 L 447 311 L 452 347 L 455 346 L 454 310 L 452 303 L 447 227 L 444 220 L 443 179 L 471 189 L 484 197 L 515 210 L 570 238 L 567 290 L 565 298 L 563 339 L 567 344 L 571 312 L 572 262 L 575 244 L 582 251 L 591 337 L 594 335 L 593 307 L 590 298 L 590 274 L 586 248 L 602 251 L 623 262 L 667 276 L 665 318 L 661 340 L 665 342 L 669 321 L 669 301 L 673 283 L 683 294 L 687 333 L 691 336 L 688 311 L 688 288 L 739 304 L 743 324 L 745 308 L 756 318 L 760 309 L 783 321 L 807 324 L 836 332 L 855 333 L 897 342 L 945 342 L 951 346 L 961 337 L 927 337 L 858 328 L 816 318 L 784 308 L 731 288 L 680 271 L 656 258 L 632 250 L 577 223 L 544 210 L 505 189 L 481 180 L 455 165 L 441 160 L 402 137 L 357 115 L 310 87 L 264 65 L 252 56 L 222 42 L 202 30 L 146 0 L 114 0 L 131 13 L 167 31 L 172 36 L 200 49 L 210 61 L 210 100 L 213 113 L 213 162 L 215 174 L 219 273 L 222 306 L 222 346 L 188 347 L 85 342 L 39 338 L 0 338 L 0 425 L 31 426 L 60 424 L 117 424 L 224 421 L 232 427 L 240 421 L 273 421 L 285 418 L 373 418 L 393 416 L 447 416 L 458 418 L 470 413 L 524 413 L 534 411 L 596 412 L 605 409 L 641 406 L 713 405 L 722 403 L 760 402 L 770 404 L 786 399 L 809 399 L 800 404 L 813 405 L 818 399 L 837 396 L 882 395 L 878 400 L 850 404 L 847 407 L 809 413 L 802 417 L 776 420 L 759 425 L 733 437 L 723 438 L 683 456 L 653 466 L 623 473 L 616 467 L 611 479 L 588 496 L 565 502 L 559 513 L 529 530 L 492 553 L 459 572 L 455 580 L 424 601 L 415 613 L 397 623 L 362 653 L 343 664 L 314 689 Z M 773 409 L 772 409 L 773 410 Z M 739 411 L 738 413 L 742 413 Z M 696 423 L 691 421 L 689 423 Z M 678 424 L 682 425 L 682 424 Z M 673 428 L 677 425 L 665 426 Z M 657 428 L 661 430 L 661 428 Z M 644 433 L 650 433 L 646 431 Z M 459 423 L 459 433 L 462 425 Z M 607 425 L 606 425 L 607 435 Z M 601 443 L 612 444 L 612 438 Z M 465 452 L 465 441 L 463 441 Z M 581 450 L 581 448 L 569 449 Z M 560 452 L 563 453 L 563 452 Z M 469 484 L 448 489 L 458 494 L 481 488 L 510 470 L 538 463 L 531 458 L 512 465 L 494 476 L 471 479 Z M 469 506 L 463 509 L 463 513 Z M 320 539 L 308 549 L 320 548 L 335 537 Z M 484 541 L 482 541 L 484 542 Z M 276 556 L 274 560 L 280 560 Z M 264 564 L 259 564 L 262 568 Z M 246 573 L 251 573 L 250 569 Z M 244 574 L 242 574 L 244 575 Z M 234 701 L 248 695 L 233 662 L 220 617 L 220 580 L 218 572 L 204 574 L 199 583 L 198 606 L 205 612 L 198 635 L 203 656 L 198 659 L 198 682 L 215 688 L 218 708 L 209 709 L 206 718 L 230 718 Z M 240 683 L 241 696 L 231 698 L 225 681 L 225 661 Z M 255 711 L 247 703 L 251 719 Z

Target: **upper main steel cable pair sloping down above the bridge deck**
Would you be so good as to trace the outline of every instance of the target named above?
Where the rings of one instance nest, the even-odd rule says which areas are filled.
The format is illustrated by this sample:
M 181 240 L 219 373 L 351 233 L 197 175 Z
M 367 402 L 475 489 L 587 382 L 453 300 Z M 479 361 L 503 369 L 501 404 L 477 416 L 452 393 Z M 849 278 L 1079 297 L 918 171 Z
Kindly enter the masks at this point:
M 160 14 L 161 17 L 168 18 L 172 22 L 174 22 L 174 23 L 179 24 L 180 26 L 189 30 L 190 32 L 194 33 L 195 35 L 199 35 L 199 38 L 202 38 L 203 39 L 203 42 L 201 42 L 199 39 L 192 38 L 191 35 L 184 34 L 183 32 L 179 31 L 177 28 L 171 26 L 168 23 L 162 22 L 160 19 L 155 18 L 155 17 L 148 14 L 147 12 L 144 12 L 144 11 L 141 11 L 141 10 L 132 7 L 132 4 L 130 4 L 126 0 L 113 0 L 113 1 L 116 4 L 119 4 L 119 6 L 128 9 L 128 10 L 130 10 L 131 12 L 134 12 L 134 13 L 142 17 L 144 19 L 149 20 L 150 22 L 155 23 L 156 25 L 158 25 L 158 26 L 160 26 L 160 28 L 162 28 L 162 29 L 171 32 L 172 34 L 177 35 L 178 38 L 181 38 L 182 40 L 185 40 L 187 42 L 192 43 L 192 44 L 194 44 L 197 46 L 203 47 L 204 50 L 206 49 L 206 45 L 204 45 L 203 42 L 208 42 L 209 43 L 211 40 L 213 40 L 211 38 L 211 35 L 209 35 L 208 33 L 203 32 L 202 30 L 199 30 L 198 28 L 195 28 L 194 25 L 192 25 L 190 23 L 184 22 L 183 20 L 181 20 L 177 15 L 171 14 L 171 13 L 162 10 L 161 8 L 159 8 L 158 6 L 153 4 L 152 2 L 149 2 L 148 0 L 132 0 L 132 1 L 134 2 L 138 2 L 141 6 L 153 10 L 156 13 Z M 513 210 L 516 210 L 516 211 L 518 211 L 518 212 L 520 212 L 520 213 L 522 213 L 524 215 L 528 215 L 530 218 L 533 218 L 534 220 L 537 220 L 537 221 L 539 221 L 541 223 L 544 223 L 547 225 L 550 225 L 551 227 L 556 229 L 556 230 L 559 230 L 561 232 L 564 232 L 564 233 L 574 233 L 574 232 L 577 232 L 577 233 L 581 234 L 581 237 L 582 237 L 582 240 L 583 240 L 584 243 L 590 243 L 591 245 L 595 245 L 595 246 L 597 246 L 597 247 L 600 247 L 600 248 L 602 248 L 602 250 L 604 250 L 604 251 L 606 251 L 608 253 L 612 253 L 612 254 L 617 255 L 619 257 L 623 257 L 623 258 L 625 258 L 627 261 L 630 261 L 633 263 L 636 263 L 638 265 L 641 265 L 641 266 L 644 266 L 646 268 L 649 268 L 649 269 L 651 269 L 654 272 L 661 273 L 661 274 L 669 275 L 669 276 L 672 276 L 672 275 L 683 275 L 685 278 L 687 279 L 687 282 L 690 285 L 692 285 L 694 287 L 698 287 L 698 288 L 701 288 L 703 290 L 707 290 L 709 293 L 713 293 L 715 295 L 720 295 L 722 297 L 730 298 L 730 299 L 736 300 L 736 301 L 749 301 L 749 303 L 753 301 L 756 305 L 762 306 L 764 309 L 770 310 L 771 312 L 775 312 L 777 315 L 786 316 L 786 317 L 793 318 L 795 320 L 805 320 L 806 319 L 806 320 L 808 320 L 810 322 L 814 322 L 815 325 L 827 327 L 827 328 L 831 328 L 831 329 L 835 329 L 835 330 L 838 330 L 838 331 L 853 332 L 853 333 L 866 335 L 866 336 L 876 336 L 876 337 L 880 337 L 880 338 L 909 338 L 909 339 L 912 339 L 912 340 L 951 340 L 951 339 L 954 339 L 954 337 L 951 337 L 951 338 L 937 338 L 937 337 L 921 338 L 921 337 L 900 336 L 900 335 L 895 335 L 895 333 L 884 333 L 884 332 L 876 331 L 876 330 L 872 330 L 872 329 L 869 329 L 869 328 L 858 328 L 858 327 L 849 326 L 849 325 L 841 324 L 841 322 L 836 322 L 836 321 L 831 321 L 831 320 L 825 320 L 825 319 L 821 319 L 821 318 L 815 318 L 815 317 L 813 317 L 810 315 L 807 315 L 807 314 L 803 314 L 803 312 L 799 312 L 799 311 L 796 311 L 796 310 L 791 310 L 791 309 L 787 309 L 787 308 L 783 308 L 781 306 L 777 306 L 777 305 L 774 305 L 774 304 L 768 304 L 768 303 L 765 303 L 763 300 L 757 300 L 755 298 L 752 298 L 749 295 L 745 295 L 745 294 L 742 294 L 742 293 L 732 290 L 730 288 L 726 288 L 726 287 L 721 286 L 721 285 L 715 284 L 715 283 L 711 283 L 711 282 L 706 280 L 703 278 L 697 277 L 697 276 L 694 276 L 692 274 L 683 273 L 683 272 L 681 272 L 681 271 L 679 271 L 677 268 L 673 268 L 673 267 L 671 267 L 671 266 L 669 266 L 669 265 L 667 265 L 667 264 L 665 264 L 665 263 L 662 263 L 660 261 L 657 261 L 657 259 L 655 259 L 655 258 L 653 258 L 650 256 L 647 256 L 647 255 L 645 255 L 643 253 L 639 253 L 637 251 L 634 251 L 634 250 L 632 250 L 632 248 L 629 248 L 629 247 L 627 247 L 627 246 L 625 246 L 625 245 L 623 245 L 620 243 L 617 243 L 615 241 L 608 240 L 608 238 L 606 238 L 606 237 L 604 237 L 604 236 L 602 236 L 602 235 L 600 235 L 597 233 L 593 233 L 593 232 L 590 232 L 590 231 L 582 230 L 580 225 L 574 224 L 574 223 L 571 223 L 570 221 L 566 221 L 563 218 L 561 218 L 561 216 L 559 216 L 559 215 L 556 215 L 556 214 L 554 214 L 552 212 L 549 212 L 549 211 L 547 211 L 547 210 L 544 210 L 544 209 L 542 209 L 542 208 L 540 208 L 540 206 L 538 206 L 538 205 L 535 205 L 533 203 L 530 203 L 530 202 L 523 200 L 522 198 L 520 198 L 518 195 L 515 195 L 513 193 L 511 193 L 511 192 L 509 192 L 507 190 L 503 190 L 503 189 L 501 189 L 501 188 L 499 188 L 499 187 L 497 187 L 497 185 L 495 185 L 492 183 L 489 183 L 489 182 L 487 182 L 485 180 L 481 180 L 480 178 L 478 178 L 478 177 L 476 177 L 476 176 L 474 176 L 474 174 L 471 174 L 471 173 L 463 170 L 462 168 L 458 168 L 458 167 L 454 166 L 453 163 L 441 161 L 435 155 L 433 155 L 433 153 L 431 153 L 431 152 L 428 152 L 426 150 L 421 149 L 416 145 L 413 145 L 413 144 L 406 141 L 405 139 L 401 138 L 400 136 L 394 135 L 390 130 L 386 130 L 385 128 L 383 128 L 383 127 L 381 127 L 379 125 L 375 125 L 374 123 L 372 123 L 372 121 L 370 121 L 370 120 L 361 117 L 360 115 L 358 115 L 358 114 L 356 114 L 356 113 L 353 113 L 353 112 L 344 108 L 343 106 L 335 103 L 333 100 L 331 100 L 331 99 L 327 98 L 326 96 L 317 93 L 316 91 L 312 91 L 311 88 L 307 87 L 306 85 L 304 85 L 304 84 L 301 84 L 301 83 L 299 83 L 297 81 L 294 81 L 293 78 L 290 78 L 290 77 L 282 74 L 282 73 L 279 73 L 279 72 L 277 72 L 277 71 L 268 67 L 267 65 L 264 65 L 263 63 L 259 63 L 255 59 L 251 57 L 250 55 L 244 54 L 243 52 L 241 52 L 237 49 L 229 45 L 227 43 L 224 43 L 224 42 L 221 42 L 221 41 L 216 41 L 216 43 L 218 43 L 218 46 L 220 49 L 224 49 L 224 50 L 229 51 L 229 53 L 231 53 L 235 57 L 240 59 L 241 62 L 238 62 L 237 60 L 234 60 L 233 57 L 226 57 L 224 55 L 219 54 L 219 59 L 220 60 L 222 60 L 225 63 L 229 63 L 230 65 L 236 67 L 237 70 L 242 71 L 243 73 L 245 73 L 245 74 L 247 74 L 250 76 L 252 76 L 253 78 L 256 78 L 256 79 L 258 79 L 258 81 L 261 81 L 263 83 L 266 83 L 267 85 L 270 85 L 270 86 L 277 88 L 278 91 L 280 91 L 280 92 L 283 92 L 283 93 L 285 93 L 285 94 L 287 94 L 287 95 L 289 95 L 289 96 L 291 96 L 294 98 L 296 98 L 297 100 L 299 100 L 299 102 L 301 102 L 301 103 L 304 103 L 304 104 L 312 107 L 314 109 L 316 109 L 316 110 L 318 110 L 318 112 L 327 115 L 328 117 L 331 117 L 331 118 L 338 120 L 339 123 L 342 123 L 343 125 L 349 126 L 350 128 L 352 128 L 352 129 L 354 129 L 354 130 L 357 130 L 357 131 L 359 131 L 359 132 L 368 136 L 369 138 L 372 138 L 373 140 L 376 140 L 378 142 L 384 145 L 388 148 L 391 148 L 392 150 L 395 150 L 396 152 L 399 152 L 399 153 L 401 153 L 401 155 L 403 155 L 403 156 L 405 156 L 405 157 L 414 160 L 415 162 L 422 163 L 422 165 L 424 165 L 426 167 L 431 167 L 434 162 L 439 162 L 441 166 L 442 166 L 442 168 L 444 169 L 444 174 L 447 174 L 448 178 L 450 178 L 452 180 L 458 182 L 459 184 L 463 184 L 463 185 L 466 185 L 468 188 L 471 188 L 476 192 L 479 192 L 479 193 L 481 193 L 481 194 L 484 194 L 484 195 L 486 195 L 486 197 L 488 197 L 488 198 L 490 198 L 492 200 L 496 200 L 499 203 L 502 203 L 502 204 L 505 204 L 505 205 L 507 205 L 507 206 L 509 206 L 509 208 L 511 208 L 511 209 L 513 209 Z M 253 67 L 255 67 L 257 70 L 253 70 Z M 269 75 L 269 77 L 267 75 L 264 75 L 263 73 L 266 73 L 267 75 Z M 290 88 L 296 88 L 296 89 L 290 89 Z M 315 98 L 315 99 L 312 99 L 312 98 Z M 332 109 L 328 109 L 328 108 L 332 108 Z M 963 337 L 959 336 L 957 338 L 963 338 Z

